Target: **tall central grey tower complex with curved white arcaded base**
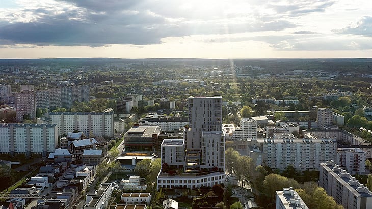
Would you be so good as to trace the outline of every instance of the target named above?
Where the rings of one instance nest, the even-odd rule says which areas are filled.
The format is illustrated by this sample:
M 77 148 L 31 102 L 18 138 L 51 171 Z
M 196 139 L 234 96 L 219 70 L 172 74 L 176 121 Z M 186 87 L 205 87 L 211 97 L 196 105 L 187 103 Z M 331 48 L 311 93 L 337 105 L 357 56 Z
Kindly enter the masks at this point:
M 185 167 L 182 172 L 173 174 L 163 171 L 162 168 L 157 176 L 157 189 L 211 187 L 225 182 L 225 134 L 221 124 L 222 97 L 191 96 L 188 102 L 189 124 L 184 128 L 185 161 L 179 162 L 178 165 L 170 165 L 169 169 L 179 169 L 183 165 Z M 183 148 L 182 141 L 177 146 Z M 172 149 L 172 145 L 167 146 L 163 143 L 163 148 L 166 151 Z M 173 158 L 173 154 L 170 156 L 164 153 L 166 162 L 176 163 L 171 161 L 170 157 Z

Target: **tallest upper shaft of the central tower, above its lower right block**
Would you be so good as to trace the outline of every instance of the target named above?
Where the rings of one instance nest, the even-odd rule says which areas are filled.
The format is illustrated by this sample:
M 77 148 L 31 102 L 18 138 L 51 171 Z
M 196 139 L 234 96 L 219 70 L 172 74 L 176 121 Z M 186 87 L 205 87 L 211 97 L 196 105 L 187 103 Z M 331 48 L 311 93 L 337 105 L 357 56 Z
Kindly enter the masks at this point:
M 222 97 L 191 96 L 189 129 L 185 130 L 186 148 L 201 150 L 202 132 L 222 131 Z

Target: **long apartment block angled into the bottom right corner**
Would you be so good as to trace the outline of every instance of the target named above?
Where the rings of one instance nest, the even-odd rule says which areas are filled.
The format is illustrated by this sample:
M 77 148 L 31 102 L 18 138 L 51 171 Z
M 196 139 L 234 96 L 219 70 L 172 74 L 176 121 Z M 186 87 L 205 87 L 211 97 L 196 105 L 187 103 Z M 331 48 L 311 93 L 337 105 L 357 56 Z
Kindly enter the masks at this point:
M 320 164 L 319 186 L 338 204 L 348 209 L 367 209 L 372 205 L 372 192 L 367 187 L 335 164 L 328 161 Z

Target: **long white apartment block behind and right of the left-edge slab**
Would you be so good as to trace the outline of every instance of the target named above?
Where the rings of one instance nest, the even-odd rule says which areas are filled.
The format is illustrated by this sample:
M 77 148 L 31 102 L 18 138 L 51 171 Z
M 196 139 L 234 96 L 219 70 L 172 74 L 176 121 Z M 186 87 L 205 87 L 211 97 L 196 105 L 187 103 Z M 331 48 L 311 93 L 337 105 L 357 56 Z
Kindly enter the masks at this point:
M 43 123 L 57 124 L 58 135 L 79 130 L 88 136 L 111 137 L 114 133 L 114 111 L 103 112 L 48 112 Z

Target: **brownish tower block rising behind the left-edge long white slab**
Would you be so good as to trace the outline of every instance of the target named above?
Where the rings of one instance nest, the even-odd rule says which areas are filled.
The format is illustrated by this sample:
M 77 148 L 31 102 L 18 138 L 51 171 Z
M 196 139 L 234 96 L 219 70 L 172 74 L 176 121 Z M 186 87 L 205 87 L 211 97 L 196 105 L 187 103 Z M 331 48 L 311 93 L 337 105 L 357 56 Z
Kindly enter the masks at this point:
M 24 115 L 30 118 L 36 116 L 35 92 L 20 92 L 16 94 L 17 121 L 23 121 Z

